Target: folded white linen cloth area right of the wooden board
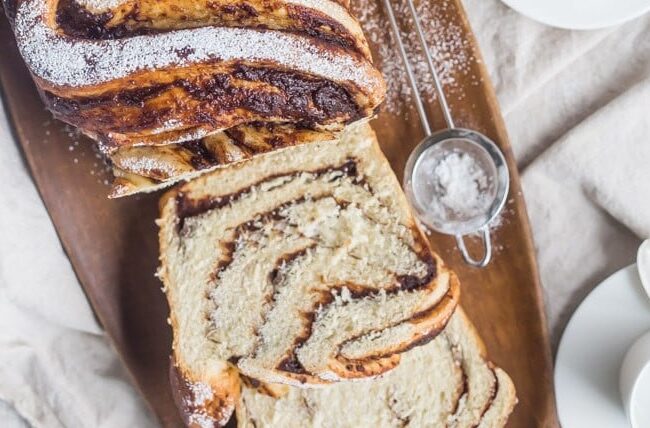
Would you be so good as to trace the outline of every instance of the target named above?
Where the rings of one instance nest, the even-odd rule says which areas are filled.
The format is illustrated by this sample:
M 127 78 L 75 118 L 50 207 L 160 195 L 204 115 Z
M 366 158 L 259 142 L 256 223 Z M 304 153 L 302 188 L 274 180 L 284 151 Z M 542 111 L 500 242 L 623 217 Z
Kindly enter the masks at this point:
M 465 2 L 522 175 L 554 347 L 650 237 L 650 15 L 599 31 Z

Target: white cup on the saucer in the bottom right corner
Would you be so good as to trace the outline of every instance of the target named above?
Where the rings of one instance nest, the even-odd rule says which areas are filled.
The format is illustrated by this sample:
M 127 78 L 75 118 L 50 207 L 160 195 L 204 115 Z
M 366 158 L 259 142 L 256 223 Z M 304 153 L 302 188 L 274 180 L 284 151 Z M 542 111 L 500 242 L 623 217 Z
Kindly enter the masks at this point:
M 619 386 L 632 427 L 650 427 L 650 331 L 639 337 L 625 354 Z

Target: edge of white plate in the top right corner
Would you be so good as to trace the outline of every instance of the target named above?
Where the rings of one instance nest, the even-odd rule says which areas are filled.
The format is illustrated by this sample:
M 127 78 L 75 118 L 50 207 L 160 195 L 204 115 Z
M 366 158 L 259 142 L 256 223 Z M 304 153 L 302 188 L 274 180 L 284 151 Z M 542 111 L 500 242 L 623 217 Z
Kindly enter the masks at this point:
M 650 10 L 650 0 L 502 0 L 553 27 L 593 30 L 621 24 Z

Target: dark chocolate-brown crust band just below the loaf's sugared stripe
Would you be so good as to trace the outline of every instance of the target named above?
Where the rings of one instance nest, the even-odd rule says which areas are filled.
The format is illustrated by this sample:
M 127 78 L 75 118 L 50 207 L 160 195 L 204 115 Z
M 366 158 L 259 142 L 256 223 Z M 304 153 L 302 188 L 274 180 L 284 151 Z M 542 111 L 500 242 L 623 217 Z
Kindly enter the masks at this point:
M 42 91 L 55 117 L 109 149 L 169 144 L 248 122 L 340 128 L 377 105 L 350 85 L 243 62 L 155 71 L 111 82 L 98 95 L 58 92 Z

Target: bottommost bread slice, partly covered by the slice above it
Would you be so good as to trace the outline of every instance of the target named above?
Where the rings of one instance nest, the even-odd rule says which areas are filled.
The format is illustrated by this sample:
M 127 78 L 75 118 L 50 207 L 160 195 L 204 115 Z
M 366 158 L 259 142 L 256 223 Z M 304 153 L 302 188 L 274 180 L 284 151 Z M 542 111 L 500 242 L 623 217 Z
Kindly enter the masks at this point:
M 502 427 L 516 402 L 459 308 L 434 341 L 380 378 L 321 389 L 244 381 L 236 415 L 240 428 Z

